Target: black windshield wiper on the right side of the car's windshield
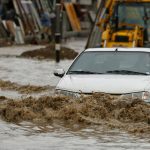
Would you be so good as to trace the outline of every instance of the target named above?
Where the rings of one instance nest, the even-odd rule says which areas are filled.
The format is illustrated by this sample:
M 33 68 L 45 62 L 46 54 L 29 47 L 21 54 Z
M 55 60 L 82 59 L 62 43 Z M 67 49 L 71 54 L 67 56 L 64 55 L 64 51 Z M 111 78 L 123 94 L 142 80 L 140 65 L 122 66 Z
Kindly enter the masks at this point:
M 149 75 L 148 73 L 137 72 L 137 71 L 130 71 L 130 70 L 111 70 L 111 71 L 107 71 L 106 73 L 112 73 L 112 74 L 131 74 L 131 75 Z

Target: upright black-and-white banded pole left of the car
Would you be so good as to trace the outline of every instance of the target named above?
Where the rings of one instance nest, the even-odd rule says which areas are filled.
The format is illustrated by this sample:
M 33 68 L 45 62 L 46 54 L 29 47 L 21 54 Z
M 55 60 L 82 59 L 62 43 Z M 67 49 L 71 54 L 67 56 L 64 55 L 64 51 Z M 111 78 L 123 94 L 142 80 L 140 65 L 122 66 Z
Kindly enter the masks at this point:
M 56 28 L 55 28 L 55 52 L 56 52 L 56 63 L 60 62 L 60 43 L 61 43 L 61 17 L 60 17 L 60 13 L 61 13 L 61 3 L 60 0 L 56 1 Z

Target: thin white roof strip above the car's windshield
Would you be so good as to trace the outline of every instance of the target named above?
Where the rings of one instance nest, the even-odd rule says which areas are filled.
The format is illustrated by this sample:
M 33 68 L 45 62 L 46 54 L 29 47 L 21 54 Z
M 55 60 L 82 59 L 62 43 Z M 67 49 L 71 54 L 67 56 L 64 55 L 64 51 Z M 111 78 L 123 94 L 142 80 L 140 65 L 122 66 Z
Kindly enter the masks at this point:
M 92 51 L 131 51 L 131 52 L 150 52 L 150 48 L 89 48 L 86 49 L 85 52 Z

